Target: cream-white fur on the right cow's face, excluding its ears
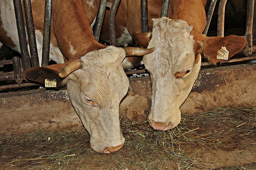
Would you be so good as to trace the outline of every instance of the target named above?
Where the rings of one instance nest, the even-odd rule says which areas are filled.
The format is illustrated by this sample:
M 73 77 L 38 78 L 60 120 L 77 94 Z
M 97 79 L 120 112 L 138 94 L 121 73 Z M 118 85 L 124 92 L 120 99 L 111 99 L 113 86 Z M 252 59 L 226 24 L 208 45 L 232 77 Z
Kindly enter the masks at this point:
M 148 48 L 155 47 L 155 50 L 145 55 L 143 61 L 152 77 L 152 106 L 148 120 L 153 125 L 162 123 L 161 130 L 180 123 L 179 107 L 188 97 L 200 70 L 201 62 L 195 63 L 195 42 L 190 35 L 191 30 L 192 26 L 184 20 L 153 20 Z M 186 76 L 174 76 L 188 68 L 191 70 Z

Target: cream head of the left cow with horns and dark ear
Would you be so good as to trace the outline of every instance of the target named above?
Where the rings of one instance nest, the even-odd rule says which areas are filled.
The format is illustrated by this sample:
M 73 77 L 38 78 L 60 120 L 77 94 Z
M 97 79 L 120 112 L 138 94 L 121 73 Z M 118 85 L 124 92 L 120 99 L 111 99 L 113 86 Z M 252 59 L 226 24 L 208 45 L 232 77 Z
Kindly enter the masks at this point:
M 45 78 L 56 79 L 58 87 L 66 84 L 72 105 L 90 134 L 91 148 L 112 153 L 124 144 L 119 104 L 128 91 L 129 81 L 122 61 L 126 55 L 145 55 L 154 49 L 145 50 L 133 53 L 130 49 L 110 46 L 67 64 L 31 68 L 25 71 L 25 76 L 41 83 Z

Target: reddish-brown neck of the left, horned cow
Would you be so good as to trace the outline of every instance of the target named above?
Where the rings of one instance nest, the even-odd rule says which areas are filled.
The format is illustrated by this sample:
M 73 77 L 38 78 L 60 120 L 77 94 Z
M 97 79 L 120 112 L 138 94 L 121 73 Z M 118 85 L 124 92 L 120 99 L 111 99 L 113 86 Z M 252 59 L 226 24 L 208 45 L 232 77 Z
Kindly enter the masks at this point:
M 106 48 L 92 34 L 81 0 L 53 1 L 52 9 L 54 34 L 67 60 Z

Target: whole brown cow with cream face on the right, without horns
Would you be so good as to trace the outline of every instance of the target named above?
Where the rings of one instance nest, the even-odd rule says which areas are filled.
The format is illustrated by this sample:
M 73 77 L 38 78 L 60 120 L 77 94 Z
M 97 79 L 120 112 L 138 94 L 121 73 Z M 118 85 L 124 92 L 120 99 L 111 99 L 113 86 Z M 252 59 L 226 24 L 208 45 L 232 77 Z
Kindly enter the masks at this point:
M 149 32 L 141 33 L 140 2 L 122 0 L 116 16 L 116 34 L 119 45 L 131 43 L 134 38 L 142 47 L 155 48 L 143 57 L 152 85 L 148 122 L 154 129 L 165 131 L 180 123 L 180 106 L 198 76 L 200 54 L 216 64 L 241 51 L 246 39 L 202 35 L 206 0 L 170 0 L 168 18 L 160 18 L 161 2 L 148 1 Z M 102 29 L 100 39 L 106 41 L 106 22 Z

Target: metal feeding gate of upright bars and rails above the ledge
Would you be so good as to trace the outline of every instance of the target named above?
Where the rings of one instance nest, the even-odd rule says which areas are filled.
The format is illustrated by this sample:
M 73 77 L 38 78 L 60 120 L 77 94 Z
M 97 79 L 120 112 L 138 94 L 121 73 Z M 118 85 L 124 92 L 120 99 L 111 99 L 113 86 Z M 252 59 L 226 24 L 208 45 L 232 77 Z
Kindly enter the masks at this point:
M 117 46 L 116 44 L 116 28 L 115 28 L 115 14 L 118 9 L 121 0 L 114 0 L 112 3 L 108 2 L 108 0 L 101 0 L 101 4 L 99 7 L 99 11 L 96 18 L 96 23 L 93 28 L 94 36 L 97 41 L 100 37 L 100 31 L 106 11 L 106 7 L 110 8 L 110 16 L 109 16 L 109 35 L 110 35 L 110 45 Z M 42 66 L 48 66 L 49 64 L 49 53 L 50 53 L 50 29 L 51 29 L 51 4 L 52 0 L 45 1 L 45 15 L 44 15 L 44 34 L 43 34 L 43 52 L 42 52 Z M 207 25 L 204 30 L 204 35 L 207 34 L 208 28 L 210 25 L 210 21 L 214 12 L 214 8 L 216 6 L 217 0 L 211 0 L 210 5 L 207 12 Z M 225 14 L 225 6 L 227 0 L 220 0 L 220 4 L 218 7 L 218 27 L 217 27 L 217 36 L 224 36 L 224 14 Z M 26 81 L 23 71 L 32 67 L 39 66 L 38 60 L 38 52 L 36 48 L 35 41 L 35 33 L 34 33 L 34 23 L 32 16 L 32 8 L 30 0 L 23 0 L 24 3 L 24 12 L 26 17 L 26 28 L 28 33 L 28 42 L 30 47 L 30 57 L 27 48 L 26 41 L 26 31 L 24 27 L 24 19 L 22 14 L 22 5 L 20 0 L 14 0 L 14 8 L 16 15 L 16 22 L 18 25 L 18 35 L 20 41 L 20 49 L 21 49 L 21 58 L 14 57 L 12 60 L 0 61 L 0 65 L 12 64 L 13 71 L 12 72 L 1 72 L 0 73 L 0 81 L 7 80 L 15 80 L 17 84 L 8 84 L 0 86 L 0 90 L 8 89 L 8 88 L 17 88 L 17 87 L 26 87 L 26 86 L 35 86 L 38 84 L 26 82 L 22 83 L 22 81 Z M 163 0 L 162 4 L 162 12 L 161 16 L 167 16 L 168 13 L 169 0 Z M 141 0 L 141 24 L 142 24 L 142 32 L 148 31 L 148 2 L 147 0 Z M 246 33 L 245 38 L 247 40 L 246 47 L 244 50 L 240 51 L 240 54 L 244 54 L 246 57 L 238 58 L 238 59 L 229 59 L 223 63 L 233 63 L 238 61 L 250 61 L 256 60 L 256 46 L 252 44 L 252 39 L 256 37 L 253 35 L 253 30 L 256 29 L 256 24 L 253 25 L 254 16 L 254 0 L 248 0 L 247 2 L 247 19 L 246 19 Z M 212 65 L 208 62 L 202 62 L 202 66 Z M 145 69 L 142 70 L 133 70 L 127 71 L 126 74 L 139 74 L 139 73 L 147 73 Z

